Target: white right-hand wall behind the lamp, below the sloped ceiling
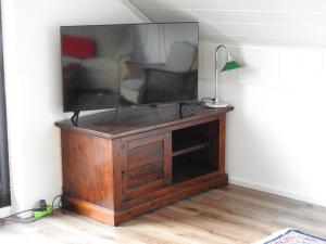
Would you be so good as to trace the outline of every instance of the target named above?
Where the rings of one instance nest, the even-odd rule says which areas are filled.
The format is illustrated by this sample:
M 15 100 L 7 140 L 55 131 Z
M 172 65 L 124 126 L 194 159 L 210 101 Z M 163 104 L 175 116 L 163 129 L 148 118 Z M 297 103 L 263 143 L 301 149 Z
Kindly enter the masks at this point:
M 216 43 L 201 47 L 200 95 L 213 95 Z M 326 50 L 229 48 L 246 64 L 220 79 L 220 97 L 235 106 L 227 117 L 230 181 L 326 206 Z

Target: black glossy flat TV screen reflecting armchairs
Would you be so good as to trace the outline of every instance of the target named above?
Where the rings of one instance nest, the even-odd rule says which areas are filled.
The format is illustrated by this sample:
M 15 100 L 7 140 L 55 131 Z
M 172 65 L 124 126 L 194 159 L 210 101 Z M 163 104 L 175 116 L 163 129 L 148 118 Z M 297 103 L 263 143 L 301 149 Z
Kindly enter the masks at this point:
M 65 112 L 197 100 L 198 23 L 62 26 Z

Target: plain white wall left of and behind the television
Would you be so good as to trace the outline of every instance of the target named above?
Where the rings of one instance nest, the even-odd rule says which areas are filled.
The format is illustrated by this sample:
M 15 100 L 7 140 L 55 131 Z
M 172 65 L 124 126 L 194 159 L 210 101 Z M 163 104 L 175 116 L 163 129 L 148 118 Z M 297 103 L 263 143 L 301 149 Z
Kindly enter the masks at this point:
M 61 25 L 133 23 L 120 0 L 2 0 L 11 190 L 14 210 L 61 193 Z

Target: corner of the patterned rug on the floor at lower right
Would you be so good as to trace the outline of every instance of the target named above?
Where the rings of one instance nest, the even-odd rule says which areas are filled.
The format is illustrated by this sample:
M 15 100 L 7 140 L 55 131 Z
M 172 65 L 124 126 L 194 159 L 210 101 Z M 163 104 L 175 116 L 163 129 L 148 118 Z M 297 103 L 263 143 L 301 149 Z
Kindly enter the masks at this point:
M 285 229 L 253 244 L 326 244 L 326 239 L 305 234 L 299 230 Z

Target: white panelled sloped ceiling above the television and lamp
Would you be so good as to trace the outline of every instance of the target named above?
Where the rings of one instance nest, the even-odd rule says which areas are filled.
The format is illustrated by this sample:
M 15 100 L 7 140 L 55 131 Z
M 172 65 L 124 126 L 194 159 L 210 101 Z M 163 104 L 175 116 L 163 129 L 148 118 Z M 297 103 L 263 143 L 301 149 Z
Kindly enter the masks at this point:
M 153 22 L 199 21 L 201 40 L 326 46 L 325 0 L 130 0 Z

